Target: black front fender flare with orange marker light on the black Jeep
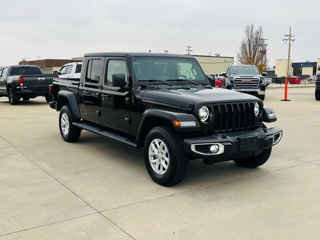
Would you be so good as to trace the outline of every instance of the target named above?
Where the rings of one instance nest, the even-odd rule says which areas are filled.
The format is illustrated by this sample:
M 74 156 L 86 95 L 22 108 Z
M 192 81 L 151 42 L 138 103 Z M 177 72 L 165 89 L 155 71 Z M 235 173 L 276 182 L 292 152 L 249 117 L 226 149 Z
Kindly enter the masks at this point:
M 156 117 L 159 119 L 167 120 L 171 122 L 173 120 L 185 122 L 185 121 L 195 121 L 196 126 L 190 127 L 177 127 L 172 124 L 174 129 L 178 132 L 197 132 L 200 131 L 200 125 L 196 117 L 192 114 L 188 114 L 187 112 L 178 112 L 172 109 L 166 108 L 148 108 L 142 115 L 141 123 L 139 124 L 138 133 L 137 133 L 137 140 L 140 140 L 141 134 L 143 129 L 150 117 Z

